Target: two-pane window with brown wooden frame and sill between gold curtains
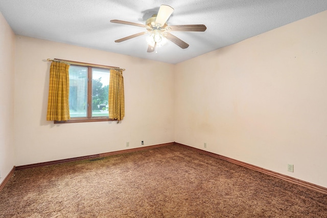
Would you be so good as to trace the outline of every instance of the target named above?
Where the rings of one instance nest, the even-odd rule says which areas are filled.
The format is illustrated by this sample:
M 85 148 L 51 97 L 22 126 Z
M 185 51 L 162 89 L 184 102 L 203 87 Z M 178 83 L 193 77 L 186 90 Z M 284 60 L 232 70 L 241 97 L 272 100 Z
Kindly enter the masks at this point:
M 112 120 L 108 118 L 109 79 L 110 67 L 72 62 L 69 67 L 71 119 L 55 123 Z

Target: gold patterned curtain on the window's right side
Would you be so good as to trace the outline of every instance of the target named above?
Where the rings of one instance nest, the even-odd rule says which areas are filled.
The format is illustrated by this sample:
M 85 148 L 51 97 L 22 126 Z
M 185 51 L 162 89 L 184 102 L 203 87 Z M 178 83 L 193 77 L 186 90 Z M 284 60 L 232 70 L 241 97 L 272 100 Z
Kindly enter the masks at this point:
M 124 78 L 122 70 L 110 70 L 109 119 L 122 120 L 125 116 Z

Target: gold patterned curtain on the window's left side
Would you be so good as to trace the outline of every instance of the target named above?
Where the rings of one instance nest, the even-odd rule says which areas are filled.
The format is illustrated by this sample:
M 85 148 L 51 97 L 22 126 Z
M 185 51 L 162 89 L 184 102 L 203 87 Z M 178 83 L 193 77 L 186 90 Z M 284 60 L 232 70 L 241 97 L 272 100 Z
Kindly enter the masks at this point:
M 69 115 L 69 65 L 52 61 L 46 120 L 66 121 Z

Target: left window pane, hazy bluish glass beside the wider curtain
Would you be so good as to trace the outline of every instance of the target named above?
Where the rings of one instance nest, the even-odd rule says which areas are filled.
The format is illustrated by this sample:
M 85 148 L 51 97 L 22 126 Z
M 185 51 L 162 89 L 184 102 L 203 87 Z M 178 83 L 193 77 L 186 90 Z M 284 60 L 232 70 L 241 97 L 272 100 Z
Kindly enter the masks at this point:
M 87 117 L 87 67 L 69 67 L 69 114 Z

